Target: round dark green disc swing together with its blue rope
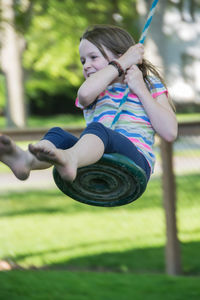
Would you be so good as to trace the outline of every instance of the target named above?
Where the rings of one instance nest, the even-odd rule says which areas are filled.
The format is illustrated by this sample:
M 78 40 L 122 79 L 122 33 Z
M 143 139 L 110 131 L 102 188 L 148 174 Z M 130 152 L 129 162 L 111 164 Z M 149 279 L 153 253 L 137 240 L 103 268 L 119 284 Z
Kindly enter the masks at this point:
M 139 43 L 144 43 L 158 0 L 154 0 Z M 119 109 L 112 122 L 114 128 L 126 102 L 125 91 Z M 53 177 L 57 187 L 67 196 L 79 202 L 102 207 L 125 205 L 138 199 L 146 189 L 147 177 L 142 168 L 124 155 L 104 154 L 95 164 L 79 168 L 76 179 L 64 181 L 56 168 Z

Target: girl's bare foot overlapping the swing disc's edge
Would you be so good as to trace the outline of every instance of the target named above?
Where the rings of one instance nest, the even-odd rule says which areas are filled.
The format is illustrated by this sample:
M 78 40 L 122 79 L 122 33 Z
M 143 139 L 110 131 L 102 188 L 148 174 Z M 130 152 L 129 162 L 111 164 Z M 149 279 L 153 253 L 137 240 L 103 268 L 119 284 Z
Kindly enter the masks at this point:
M 30 144 L 29 151 L 37 159 L 54 165 L 64 180 L 72 182 L 76 178 L 77 162 L 71 149 L 57 149 L 51 142 L 43 140 Z

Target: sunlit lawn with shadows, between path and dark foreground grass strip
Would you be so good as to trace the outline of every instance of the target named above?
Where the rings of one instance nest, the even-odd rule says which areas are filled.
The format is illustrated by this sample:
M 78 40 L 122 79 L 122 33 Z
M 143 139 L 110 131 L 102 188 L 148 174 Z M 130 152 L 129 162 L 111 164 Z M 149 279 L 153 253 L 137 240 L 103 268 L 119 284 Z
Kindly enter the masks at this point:
M 200 182 L 198 175 L 189 177 L 195 184 L 187 186 L 187 176 L 177 183 L 179 236 L 184 272 L 200 274 Z M 58 190 L 5 193 L 0 206 L 0 256 L 25 268 L 164 272 L 165 219 L 157 179 L 141 199 L 118 208 L 83 205 Z

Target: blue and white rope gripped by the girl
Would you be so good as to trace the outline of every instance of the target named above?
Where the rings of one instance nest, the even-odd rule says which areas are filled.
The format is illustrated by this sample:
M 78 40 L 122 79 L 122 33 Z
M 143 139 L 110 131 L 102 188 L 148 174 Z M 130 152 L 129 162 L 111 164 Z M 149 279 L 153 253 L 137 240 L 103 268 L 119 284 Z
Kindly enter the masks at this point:
M 154 0 L 153 3 L 152 3 L 152 6 L 150 8 L 150 11 L 149 11 L 149 14 L 148 14 L 148 17 L 147 17 L 147 21 L 144 25 L 144 28 L 143 28 L 143 31 L 142 31 L 142 34 L 141 34 L 141 37 L 140 37 L 140 40 L 139 40 L 139 43 L 141 44 L 144 44 L 144 41 L 146 39 L 146 36 L 147 36 L 147 32 L 149 30 L 149 26 L 151 24 L 151 21 L 152 21 L 152 18 L 153 18 L 153 15 L 155 13 L 155 10 L 156 10 L 156 5 L 158 4 L 158 0 Z M 126 99 L 128 97 L 128 93 L 129 93 L 129 88 L 127 87 L 126 90 L 125 90 L 125 93 L 124 93 L 124 96 L 119 104 L 119 107 L 118 107 L 118 110 L 117 110 L 117 113 L 112 121 L 112 124 L 110 126 L 110 128 L 113 128 L 114 125 L 117 123 L 117 121 L 119 120 L 119 117 L 120 117 L 120 114 L 121 114 L 121 111 L 123 109 L 123 104 L 126 102 Z

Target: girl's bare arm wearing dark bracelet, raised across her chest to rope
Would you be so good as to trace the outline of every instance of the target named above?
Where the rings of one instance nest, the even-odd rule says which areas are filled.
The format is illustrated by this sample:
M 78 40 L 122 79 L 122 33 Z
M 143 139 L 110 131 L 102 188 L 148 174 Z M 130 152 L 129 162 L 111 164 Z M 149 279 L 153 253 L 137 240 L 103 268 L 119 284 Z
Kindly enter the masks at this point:
M 118 61 L 122 69 L 126 71 L 132 64 L 142 63 L 143 54 L 143 45 L 137 44 L 130 47 L 122 56 L 115 60 Z M 112 65 L 107 65 L 105 68 L 90 75 L 78 90 L 79 103 L 84 107 L 93 103 L 118 76 L 118 70 Z

